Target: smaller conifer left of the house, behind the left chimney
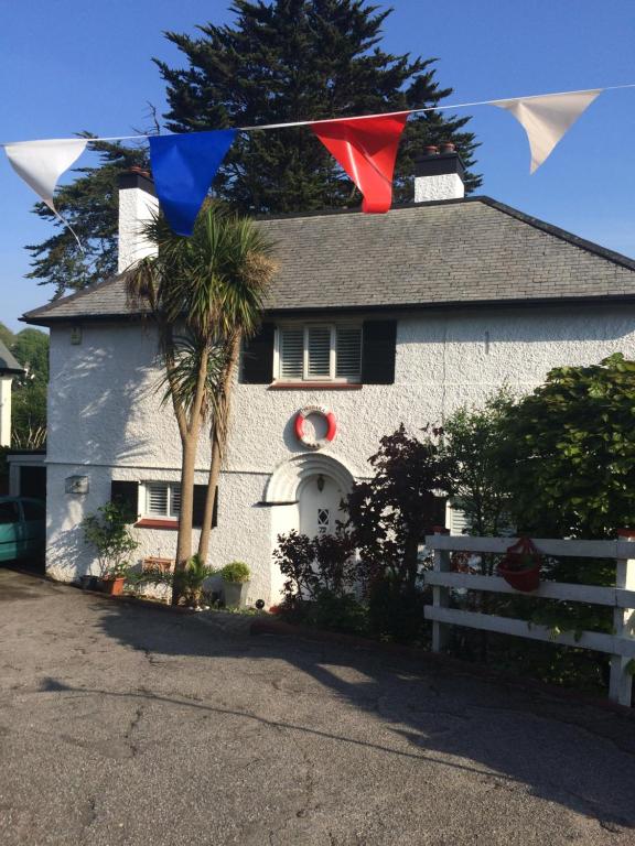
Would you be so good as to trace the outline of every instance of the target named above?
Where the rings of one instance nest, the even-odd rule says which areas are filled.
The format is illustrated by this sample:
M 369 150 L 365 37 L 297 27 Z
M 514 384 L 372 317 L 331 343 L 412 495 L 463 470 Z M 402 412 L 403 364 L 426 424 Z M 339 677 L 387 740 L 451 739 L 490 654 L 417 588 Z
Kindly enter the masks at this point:
M 89 132 L 80 133 L 93 138 Z M 55 285 L 53 299 L 86 285 L 100 282 L 117 272 L 118 195 L 117 177 L 137 165 L 148 167 L 146 145 L 123 147 L 121 143 L 97 141 L 92 150 L 100 153 L 100 163 L 94 167 L 76 167 L 75 182 L 63 185 L 55 195 L 60 214 L 71 224 L 82 241 L 84 252 L 67 227 L 44 203 L 36 203 L 39 217 L 55 226 L 55 234 L 39 245 L 30 245 L 33 270 L 29 279 L 40 284 Z

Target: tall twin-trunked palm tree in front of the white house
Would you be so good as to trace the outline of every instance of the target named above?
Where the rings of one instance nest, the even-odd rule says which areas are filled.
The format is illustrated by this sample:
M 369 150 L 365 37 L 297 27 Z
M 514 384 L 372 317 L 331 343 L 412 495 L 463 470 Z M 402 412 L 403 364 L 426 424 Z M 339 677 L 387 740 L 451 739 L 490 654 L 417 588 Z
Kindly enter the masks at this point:
M 207 558 L 214 497 L 228 433 L 229 398 L 244 338 L 259 325 L 271 282 L 273 246 L 248 218 L 215 202 L 198 215 L 190 238 L 162 217 L 146 227 L 158 247 L 128 272 L 132 307 L 159 329 L 165 388 L 182 447 L 176 570 L 192 556 L 194 470 L 201 432 L 212 417 L 212 459 L 198 554 Z M 173 592 L 173 603 L 179 601 Z

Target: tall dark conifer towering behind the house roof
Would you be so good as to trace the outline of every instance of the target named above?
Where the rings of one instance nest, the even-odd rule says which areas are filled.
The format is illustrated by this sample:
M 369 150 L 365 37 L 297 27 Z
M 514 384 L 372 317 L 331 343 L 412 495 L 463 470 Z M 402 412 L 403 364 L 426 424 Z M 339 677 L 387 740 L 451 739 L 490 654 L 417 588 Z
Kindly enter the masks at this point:
M 187 59 L 173 69 L 154 59 L 168 84 L 168 128 L 174 132 L 346 117 L 435 107 L 435 59 L 384 52 L 377 12 L 365 0 L 235 0 L 230 25 L 201 26 L 201 37 L 166 33 Z M 427 144 L 453 141 L 473 164 L 469 118 L 439 111 L 410 118 L 396 167 L 395 198 L 412 196 L 413 161 Z M 481 184 L 467 174 L 467 189 Z M 243 212 L 309 212 L 359 196 L 308 128 L 240 135 L 215 183 Z

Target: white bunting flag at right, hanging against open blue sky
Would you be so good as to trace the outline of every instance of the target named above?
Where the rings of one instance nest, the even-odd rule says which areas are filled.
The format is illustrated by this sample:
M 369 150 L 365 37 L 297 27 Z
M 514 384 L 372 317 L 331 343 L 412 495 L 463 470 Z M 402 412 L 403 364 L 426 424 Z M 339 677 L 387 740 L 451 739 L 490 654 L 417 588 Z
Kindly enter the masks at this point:
M 524 127 L 531 150 L 530 173 L 538 170 L 558 141 L 578 120 L 602 88 L 574 94 L 548 94 L 516 100 L 492 100 L 492 106 L 510 111 Z

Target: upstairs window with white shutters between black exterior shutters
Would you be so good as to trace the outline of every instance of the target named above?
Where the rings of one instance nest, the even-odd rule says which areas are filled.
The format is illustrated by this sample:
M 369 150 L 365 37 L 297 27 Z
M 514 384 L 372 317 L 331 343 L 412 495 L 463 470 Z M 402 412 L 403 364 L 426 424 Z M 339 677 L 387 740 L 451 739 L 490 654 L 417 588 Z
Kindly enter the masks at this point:
M 362 381 L 360 324 L 282 325 L 276 340 L 279 381 Z

